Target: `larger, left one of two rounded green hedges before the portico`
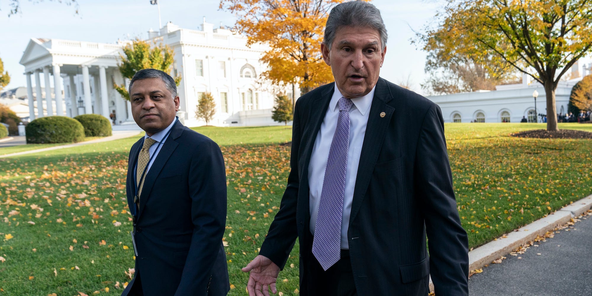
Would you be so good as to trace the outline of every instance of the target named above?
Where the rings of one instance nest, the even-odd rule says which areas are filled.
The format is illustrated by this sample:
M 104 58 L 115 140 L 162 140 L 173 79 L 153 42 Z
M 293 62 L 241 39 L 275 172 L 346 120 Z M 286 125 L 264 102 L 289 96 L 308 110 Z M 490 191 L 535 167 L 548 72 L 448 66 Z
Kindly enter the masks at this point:
M 65 116 L 41 117 L 25 128 L 27 143 L 69 143 L 84 140 L 84 127 Z

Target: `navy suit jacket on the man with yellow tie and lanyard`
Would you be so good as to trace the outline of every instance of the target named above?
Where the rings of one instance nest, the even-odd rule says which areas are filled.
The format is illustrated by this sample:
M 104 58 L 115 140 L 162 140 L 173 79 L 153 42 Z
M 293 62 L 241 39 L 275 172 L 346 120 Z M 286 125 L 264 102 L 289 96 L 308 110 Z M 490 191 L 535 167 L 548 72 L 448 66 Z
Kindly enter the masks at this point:
M 142 137 L 130 151 L 130 209 L 135 207 L 134 170 L 143 143 Z M 146 296 L 226 295 L 225 225 L 226 169 L 220 147 L 177 122 L 144 181 L 135 231 L 136 277 L 123 295 L 138 277 Z

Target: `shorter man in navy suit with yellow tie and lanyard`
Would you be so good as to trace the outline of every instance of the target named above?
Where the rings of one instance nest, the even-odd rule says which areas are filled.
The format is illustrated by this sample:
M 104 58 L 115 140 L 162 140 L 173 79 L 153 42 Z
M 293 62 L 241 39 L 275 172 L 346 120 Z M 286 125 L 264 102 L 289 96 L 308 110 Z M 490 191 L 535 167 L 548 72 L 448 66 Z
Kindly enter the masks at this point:
M 129 93 L 134 120 L 146 136 L 131 147 L 127 169 L 136 275 L 122 295 L 226 295 L 220 147 L 175 117 L 179 96 L 167 73 L 140 70 Z

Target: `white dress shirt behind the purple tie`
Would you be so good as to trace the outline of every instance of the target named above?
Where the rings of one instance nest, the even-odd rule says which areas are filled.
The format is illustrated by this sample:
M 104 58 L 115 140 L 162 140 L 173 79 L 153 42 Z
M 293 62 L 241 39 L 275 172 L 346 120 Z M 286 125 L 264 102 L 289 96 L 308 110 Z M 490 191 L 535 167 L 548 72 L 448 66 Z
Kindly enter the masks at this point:
M 370 105 L 372 105 L 372 98 L 374 97 L 374 90 L 372 88 L 365 96 L 353 98 L 352 108 L 349 111 L 349 149 L 348 149 L 348 165 L 345 172 L 345 195 L 343 196 L 343 216 L 341 220 L 341 249 L 349 249 L 348 244 L 348 227 L 349 214 L 352 210 L 353 187 L 356 184 L 356 174 L 358 172 L 358 164 L 360 161 L 360 152 L 362 151 L 362 143 L 364 135 L 366 134 L 366 124 L 368 123 L 368 113 L 370 112 Z M 310 232 L 314 234 L 314 227 L 317 221 L 318 204 L 321 199 L 321 191 L 323 190 L 323 180 L 325 177 L 325 169 L 327 167 L 327 159 L 329 158 L 329 149 L 333 141 L 333 134 L 337 128 L 337 117 L 339 117 L 339 99 L 342 94 L 335 86 L 335 91 L 329 108 L 325 114 L 323 124 L 318 130 L 317 138 L 314 141 L 313 154 L 310 157 L 308 164 L 308 185 L 310 188 Z

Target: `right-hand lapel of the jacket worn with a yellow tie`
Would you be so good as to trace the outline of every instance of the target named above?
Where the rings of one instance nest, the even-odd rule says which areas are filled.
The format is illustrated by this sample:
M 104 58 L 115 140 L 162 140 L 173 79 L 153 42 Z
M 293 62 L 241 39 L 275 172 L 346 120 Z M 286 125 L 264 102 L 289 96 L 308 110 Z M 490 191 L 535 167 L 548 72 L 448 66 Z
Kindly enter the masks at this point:
M 150 191 L 152 191 L 152 187 L 154 186 L 156 178 L 160 175 L 160 171 L 165 166 L 167 160 L 169 160 L 170 155 L 173 154 L 173 151 L 175 151 L 176 147 L 179 145 L 176 139 L 181 136 L 183 129 L 184 126 L 180 122 L 177 122 L 175 126 L 172 127 L 169 137 L 165 139 L 165 143 L 162 144 L 160 152 L 156 156 L 152 166 L 150 166 L 150 170 L 146 174 L 146 177 L 144 177 L 144 187 L 142 188 L 142 193 L 140 195 L 140 210 L 138 216 L 141 215 L 144 205 L 146 205 L 146 202 L 150 197 Z

